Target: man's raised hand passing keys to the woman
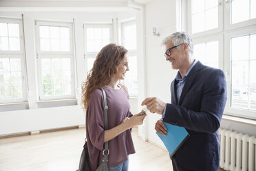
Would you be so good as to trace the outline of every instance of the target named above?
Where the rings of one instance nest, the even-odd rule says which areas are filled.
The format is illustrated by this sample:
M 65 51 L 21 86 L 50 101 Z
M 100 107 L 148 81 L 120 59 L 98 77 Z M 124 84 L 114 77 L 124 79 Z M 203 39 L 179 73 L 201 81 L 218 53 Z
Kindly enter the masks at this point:
M 167 103 L 164 103 L 160 99 L 156 97 L 148 97 L 144 101 L 142 101 L 141 105 L 147 105 L 147 109 L 151 113 L 158 113 L 162 114 L 164 112 L 164 108 L 167 105 Z

